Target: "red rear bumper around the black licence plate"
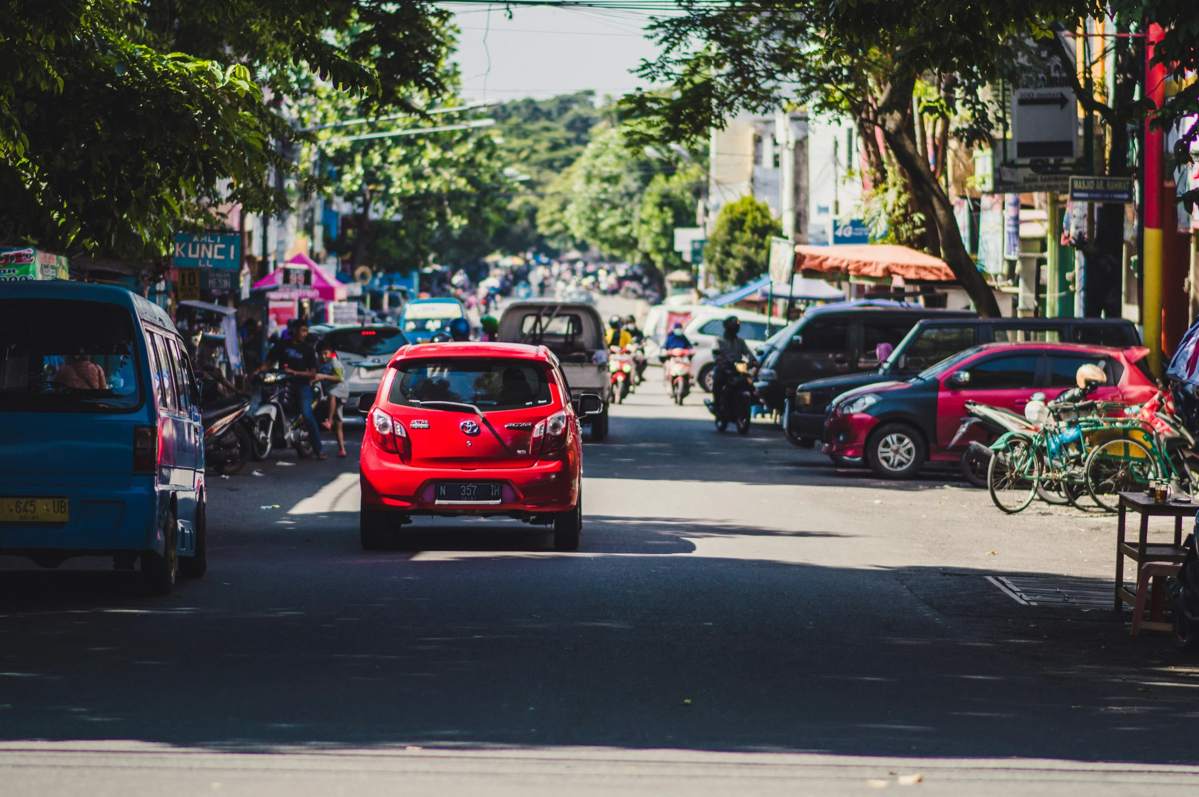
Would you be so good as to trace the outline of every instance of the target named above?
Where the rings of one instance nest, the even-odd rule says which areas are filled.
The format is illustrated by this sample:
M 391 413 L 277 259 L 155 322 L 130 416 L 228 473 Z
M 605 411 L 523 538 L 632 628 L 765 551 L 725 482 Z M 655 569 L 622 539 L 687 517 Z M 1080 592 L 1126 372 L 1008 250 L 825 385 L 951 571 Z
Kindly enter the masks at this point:
M 398 460 L 390 461 L 374 446 L 363 447 L 362 506 L 400 514 L 532 515 L 544 512 L 565 512 L 579 500 L 579 467 L 576 460 L 538 460 L 529 467 L 459 470 L 450 467 L 409 467 Z M 439 505 L 434 500 L 438 482 L 500 482 L 504 485 L 501 503 Z

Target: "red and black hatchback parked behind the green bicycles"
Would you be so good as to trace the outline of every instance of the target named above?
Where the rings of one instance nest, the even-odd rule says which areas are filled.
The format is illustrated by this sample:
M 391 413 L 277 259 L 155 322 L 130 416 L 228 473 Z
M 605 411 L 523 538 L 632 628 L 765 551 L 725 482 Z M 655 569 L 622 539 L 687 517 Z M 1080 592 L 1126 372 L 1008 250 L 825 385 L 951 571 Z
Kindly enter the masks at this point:
M 1091 398 L 1146 401 L 1157 391 L 1141 370 L 1149 349 L 1054 343 L 990 343 L 960 351 L 906 381 L 842 393 L 825 416 L 824 453 L 837 464 L 863 458 L 884 478 L 915 476 L 926 461 L 960 461 L 974 436 L 951 449 L 975 401 L 1024 413 L 1037 392 L 1047 400 L 1076 386 L 1078 368 L 1097 364 L 1107 382 Z

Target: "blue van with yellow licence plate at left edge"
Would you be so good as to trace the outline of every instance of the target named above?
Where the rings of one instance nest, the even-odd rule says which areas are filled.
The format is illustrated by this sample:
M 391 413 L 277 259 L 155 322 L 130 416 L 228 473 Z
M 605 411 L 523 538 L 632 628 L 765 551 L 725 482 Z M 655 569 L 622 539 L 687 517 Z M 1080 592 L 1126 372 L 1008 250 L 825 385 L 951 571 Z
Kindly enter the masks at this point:
M 0 283 L 0 554 L 207 567 L 204 431 L 170 316 L 121 288 Z

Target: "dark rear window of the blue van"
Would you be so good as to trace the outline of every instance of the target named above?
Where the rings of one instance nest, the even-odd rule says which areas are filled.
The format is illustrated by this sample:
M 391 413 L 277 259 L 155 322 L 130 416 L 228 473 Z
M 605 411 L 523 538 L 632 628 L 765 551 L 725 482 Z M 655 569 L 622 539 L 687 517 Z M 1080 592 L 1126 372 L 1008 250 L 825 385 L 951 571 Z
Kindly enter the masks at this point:
M 0 302 L 0 411 L 121 412 L 141 405 L 133 313 L 119 304 Z

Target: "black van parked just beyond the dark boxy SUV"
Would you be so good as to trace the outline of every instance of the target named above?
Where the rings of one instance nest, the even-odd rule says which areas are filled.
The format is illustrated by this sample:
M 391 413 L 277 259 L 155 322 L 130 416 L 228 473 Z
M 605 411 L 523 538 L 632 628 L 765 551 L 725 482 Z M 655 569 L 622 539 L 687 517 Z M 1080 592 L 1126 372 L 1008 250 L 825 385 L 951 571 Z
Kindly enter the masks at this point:
M 754 387 L 763 404 L 782 413 L 801 382 L 824 376 L 874 373 L 878 345 L 897 345 L 921 319 L 972 319 L 975 313 L 855 300 L 808 309 L 761 354 Z

